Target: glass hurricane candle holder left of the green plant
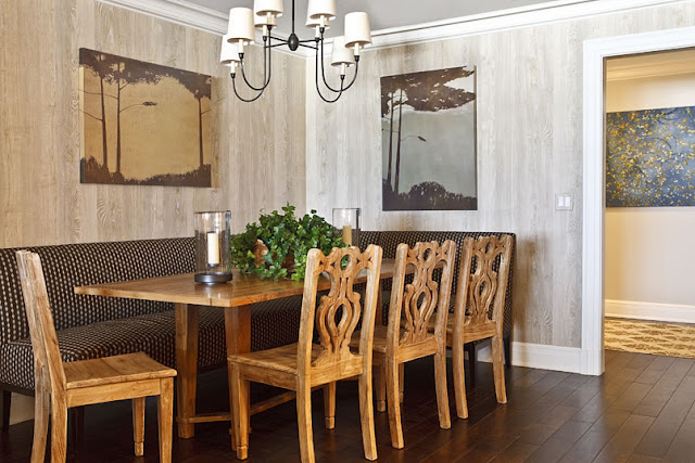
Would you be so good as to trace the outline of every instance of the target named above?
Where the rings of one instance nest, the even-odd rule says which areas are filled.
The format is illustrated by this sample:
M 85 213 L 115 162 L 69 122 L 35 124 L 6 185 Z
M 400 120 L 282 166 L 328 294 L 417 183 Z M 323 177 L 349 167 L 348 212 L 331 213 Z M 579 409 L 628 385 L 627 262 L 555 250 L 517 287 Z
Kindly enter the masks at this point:
M 195 276 L 198 283 L 231 280 L 229 234 L 231 211 L 195 213 Z

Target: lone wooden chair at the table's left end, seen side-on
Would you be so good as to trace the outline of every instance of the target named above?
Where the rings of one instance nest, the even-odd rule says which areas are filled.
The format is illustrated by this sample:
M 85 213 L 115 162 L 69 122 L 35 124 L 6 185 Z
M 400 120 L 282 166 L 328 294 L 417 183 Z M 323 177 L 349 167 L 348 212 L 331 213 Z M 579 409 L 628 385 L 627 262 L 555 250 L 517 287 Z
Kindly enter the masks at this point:
M 173 394 L 176 370 L 143 352 L 63 363 L 38 254 L 16 253 L 35 358 L 36 409 L 31 462 L 42 462 L 51 419 L 51 461 L 67 452 L 67 409 L 132 399 L 135 454 L 144 446 L 144 398 L 159 396 L 160 460 L 172 461 Z

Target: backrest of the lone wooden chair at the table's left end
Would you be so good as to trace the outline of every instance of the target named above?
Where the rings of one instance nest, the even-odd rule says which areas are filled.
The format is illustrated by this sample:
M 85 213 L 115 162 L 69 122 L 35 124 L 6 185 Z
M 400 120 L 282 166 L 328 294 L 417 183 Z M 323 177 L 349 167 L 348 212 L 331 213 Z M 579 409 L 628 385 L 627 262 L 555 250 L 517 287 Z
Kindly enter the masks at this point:
M 59 394 L 65 389 L 65 372 L 58 346 L 41 259 L 38 254 L 28 250 L 17 250 L 16 257 L 34 348 L 35 377 L 39 381 L 39 375 L 48 370 L 51 391 Z

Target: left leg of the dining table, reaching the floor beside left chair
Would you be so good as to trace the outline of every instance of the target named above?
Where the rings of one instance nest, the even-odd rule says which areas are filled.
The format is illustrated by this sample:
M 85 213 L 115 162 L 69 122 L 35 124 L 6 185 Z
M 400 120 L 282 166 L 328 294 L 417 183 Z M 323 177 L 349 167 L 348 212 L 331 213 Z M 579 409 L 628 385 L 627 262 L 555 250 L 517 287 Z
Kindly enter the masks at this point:
M 176 377 L 178 437 L 190 439 L 195 433 L 191 420 L 195 415 L 198 382 L 198 307 L 176 304 Z

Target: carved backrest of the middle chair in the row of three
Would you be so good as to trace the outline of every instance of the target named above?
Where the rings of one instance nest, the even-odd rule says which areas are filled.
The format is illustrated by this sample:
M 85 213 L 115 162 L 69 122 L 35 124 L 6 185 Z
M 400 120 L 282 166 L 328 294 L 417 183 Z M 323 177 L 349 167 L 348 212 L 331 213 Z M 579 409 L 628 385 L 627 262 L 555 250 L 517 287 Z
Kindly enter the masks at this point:
M 456 261 L 456 244 L 446 240 L 416 243 L 409 247 L 401 243 L 395 252 L 395 270 L 391 303 L 389 304 L 388 343 L 395 346 L 420 343 L 428 337 L 444 337 L 448 300 L 452 290 L 452 272 Z M 415 268 L 413 283 L 405 283 L 406 269 Z M 434 270 L 441 269 L 438 284 Z M 430 320 L 437 313 L 434 334 Z M 401 329 L 404 330 L 400 335 Z

